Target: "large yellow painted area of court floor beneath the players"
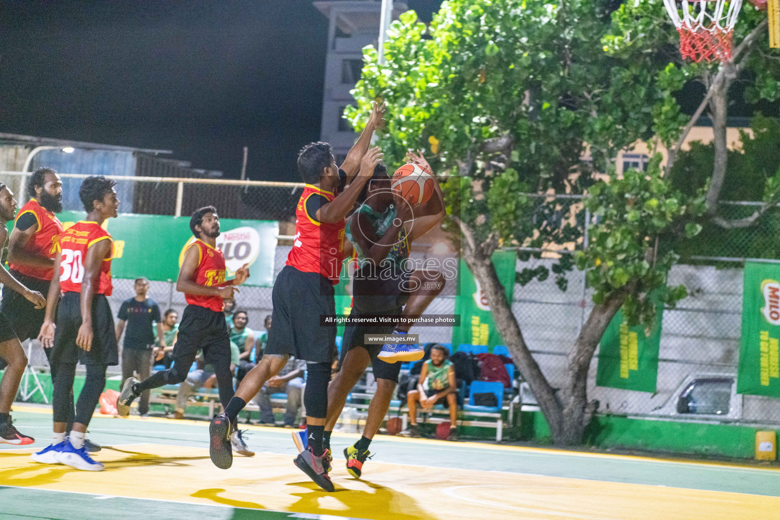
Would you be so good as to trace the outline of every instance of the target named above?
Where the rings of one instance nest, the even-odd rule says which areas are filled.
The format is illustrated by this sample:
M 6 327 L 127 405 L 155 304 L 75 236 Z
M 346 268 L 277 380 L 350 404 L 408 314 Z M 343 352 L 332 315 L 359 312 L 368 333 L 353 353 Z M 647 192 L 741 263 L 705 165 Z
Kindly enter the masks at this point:
M 222 471 L 203 447 L 136 444 L 105 448 L 94 473 L 36 464 L 30 451 L 0 453 L 0 486 L 372 520 L 766 520 L 780 510 L 780 497 L 387 462 L 361 480 L 336 465 L 337 492 L 325 493 L 290 455 L 236 457 Z

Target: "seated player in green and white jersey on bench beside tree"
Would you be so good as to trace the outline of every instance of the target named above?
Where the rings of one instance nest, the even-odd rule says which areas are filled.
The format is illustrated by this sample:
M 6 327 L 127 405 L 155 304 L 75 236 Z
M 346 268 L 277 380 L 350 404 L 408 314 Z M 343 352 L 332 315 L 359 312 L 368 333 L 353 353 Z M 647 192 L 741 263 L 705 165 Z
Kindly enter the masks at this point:
M 449 437 L 447 440 L 458 440 L 456 428 L 458 420 L 458 403 L 456 393 L 458 386 L 455 380 L 455 366 L 447 359 L 449 352 L 443 345 L 431 347 L 431 359 L 423 363 L 420 371 L 420 381 L 416 390 L 407 394 L 409 400 L 409 430 L 410 437 L 420 437 L 417 427 L 417 403 L 423 411 L 431 411 L 434 405 L 449 407 Z

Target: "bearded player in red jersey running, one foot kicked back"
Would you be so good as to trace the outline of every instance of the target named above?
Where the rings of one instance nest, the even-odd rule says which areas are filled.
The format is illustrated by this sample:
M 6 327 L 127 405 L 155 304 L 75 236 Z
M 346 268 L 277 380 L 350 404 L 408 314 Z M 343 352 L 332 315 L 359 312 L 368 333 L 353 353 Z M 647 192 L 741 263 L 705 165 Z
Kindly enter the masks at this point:
M 236 278 L 225 281 L 225 256 L 217 249 L 219 215 L 213 206 L 201 207 L 190 218 L 195 241 L 184 253 L 176 290 L 183 292 L 187 305 L 179 324 L 179 334 L 173 347 L 173 365 L 140 383 L 129 377 L 116 400 L 120 416 L 127 416 L 130 404 L 141 392 L 165 384 L 178 384 L 187 377 L 195 356 L 203 349 L 206 363 L 214 366 L 222 406 L 233 397 L 233 375 L 230 370 L 230 336 L 225 323 L 225 299 L 233 299 L 236 285 L 249 278 L 249 265 L 236 271 Z M 232 434 L 232 449 L 242 455 L 254 455 L 241 438 L 241 432 Z M 232 455 L 232 453 L 231 453 Z

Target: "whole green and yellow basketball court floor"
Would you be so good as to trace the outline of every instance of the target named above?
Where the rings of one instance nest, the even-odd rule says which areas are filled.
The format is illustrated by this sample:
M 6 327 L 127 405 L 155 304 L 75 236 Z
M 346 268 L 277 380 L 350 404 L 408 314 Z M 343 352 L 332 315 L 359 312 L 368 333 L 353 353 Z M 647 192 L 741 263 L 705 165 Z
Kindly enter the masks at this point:
M 51 437 L 50 409 L 13 416 L 38 440 L 0 444 L 0 518 L 780 518 L 777 466 L 379 436 L 357 480 L 342 450 L 359 436 L 334 433 L 326 493 L 293 465 L 290 430 L 249 426 L 257 455 L 225 471 L 208 458 L 206 422 L 96 416 L 105 471 L 82 472 L 30 460 Z

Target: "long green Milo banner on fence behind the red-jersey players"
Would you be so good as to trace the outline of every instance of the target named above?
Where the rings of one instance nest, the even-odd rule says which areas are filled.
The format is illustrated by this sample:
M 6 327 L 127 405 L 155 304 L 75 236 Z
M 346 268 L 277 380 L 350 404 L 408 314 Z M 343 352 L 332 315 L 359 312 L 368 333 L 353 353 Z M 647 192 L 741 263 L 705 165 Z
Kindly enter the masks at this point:
M 67 229 L 83 220 L 85 214 L 63 211 L 57 217 Z M 271 287 L 278 222 L 221 218 L 219 224 L 217 247 L 225 255 L 226 278 L 232 278 L 243 264 L 249 264 L 250 278 L 245 285 Z M 145 276 L 150 280 L 175 281 L 186 246 L 195 240 L 190 217 L 119 214 L 106 220 L 103 227 L 114 239 L 114 278 Z

